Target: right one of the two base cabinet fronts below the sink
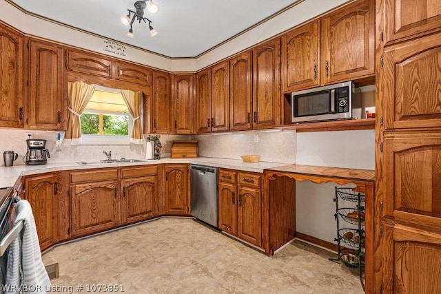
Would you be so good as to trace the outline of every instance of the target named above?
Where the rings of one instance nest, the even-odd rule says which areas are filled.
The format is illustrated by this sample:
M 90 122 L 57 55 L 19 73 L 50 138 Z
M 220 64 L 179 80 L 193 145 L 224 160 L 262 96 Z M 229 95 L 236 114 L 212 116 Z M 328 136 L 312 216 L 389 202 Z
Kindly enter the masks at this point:
M 158 166 L 121 168 L 121 223 L 158 216 Z

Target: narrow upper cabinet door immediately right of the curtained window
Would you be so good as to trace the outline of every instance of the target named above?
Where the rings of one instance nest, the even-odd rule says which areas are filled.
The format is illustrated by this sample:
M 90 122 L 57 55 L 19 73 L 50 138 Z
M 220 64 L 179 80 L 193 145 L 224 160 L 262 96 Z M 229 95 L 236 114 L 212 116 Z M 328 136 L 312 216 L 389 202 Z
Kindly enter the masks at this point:
M 170 133 L 170 92 L 172 91 L 170 74 L 153 72 L 153 132 Z

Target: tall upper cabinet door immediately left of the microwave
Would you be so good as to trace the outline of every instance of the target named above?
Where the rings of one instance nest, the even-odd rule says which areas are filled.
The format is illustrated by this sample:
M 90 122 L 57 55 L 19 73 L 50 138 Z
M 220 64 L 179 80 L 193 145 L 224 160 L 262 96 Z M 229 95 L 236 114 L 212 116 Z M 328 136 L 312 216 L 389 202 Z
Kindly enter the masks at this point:
M 253 129 L 280 124 L 280 39 L 253 51 Z

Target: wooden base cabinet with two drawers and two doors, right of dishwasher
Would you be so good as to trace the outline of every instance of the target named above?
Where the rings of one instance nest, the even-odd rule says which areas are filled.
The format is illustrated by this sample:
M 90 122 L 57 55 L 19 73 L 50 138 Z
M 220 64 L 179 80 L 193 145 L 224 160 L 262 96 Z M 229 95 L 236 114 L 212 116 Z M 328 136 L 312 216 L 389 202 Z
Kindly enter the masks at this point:
M 219 169 L 219 229 L 262 246 L 260 174 Z

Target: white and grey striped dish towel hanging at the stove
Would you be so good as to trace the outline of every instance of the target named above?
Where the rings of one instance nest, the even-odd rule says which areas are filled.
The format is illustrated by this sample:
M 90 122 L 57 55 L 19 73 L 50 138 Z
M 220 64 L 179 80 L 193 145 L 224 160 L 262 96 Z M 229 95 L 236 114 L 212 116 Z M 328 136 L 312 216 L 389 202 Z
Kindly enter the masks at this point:
M 41 260 L 37 228 L 27 200 L 20 200 L 15 206 L 14 224 L 20 220 L 24 220 L 23 231 L 12 241 L 8 252 L 6 285 L 12 291 L 6 293 L 19 293 L 19 289 L 23 293 L 46 293 L 50 289 L 49 276 Z

